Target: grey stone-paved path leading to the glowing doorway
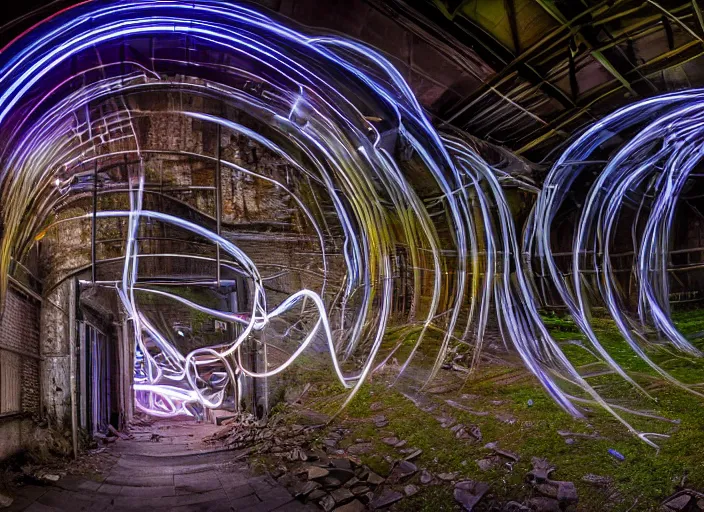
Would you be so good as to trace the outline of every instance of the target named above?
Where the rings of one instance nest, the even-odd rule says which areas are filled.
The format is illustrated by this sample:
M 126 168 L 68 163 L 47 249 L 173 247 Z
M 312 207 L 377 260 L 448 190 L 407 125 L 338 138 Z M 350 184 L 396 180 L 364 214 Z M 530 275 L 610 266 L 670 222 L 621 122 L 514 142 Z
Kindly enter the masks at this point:
M 111 444 L 112 469 L 21 488 L 7 511 L 315 511 L 270 476 L 253 475 L 244 454 L 201 442 L 212 425 L 160 422 Z M 152 432 L 159 441 L 152 440 Z

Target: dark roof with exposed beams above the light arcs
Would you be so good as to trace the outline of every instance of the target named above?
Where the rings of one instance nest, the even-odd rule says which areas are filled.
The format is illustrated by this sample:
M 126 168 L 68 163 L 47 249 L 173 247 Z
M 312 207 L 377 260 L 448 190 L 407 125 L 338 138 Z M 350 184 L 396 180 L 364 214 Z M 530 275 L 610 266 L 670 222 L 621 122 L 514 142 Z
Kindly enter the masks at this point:
M 8 40 L 73 2 L 14 6 Z M 534 163 L 630 102 L 704 84 L 697 0 L 260 0 L 303 25 L 384 52 L 436 124 Z M 12 16 L 13 18 L 16 16 Z M 10 16 L 8 16 L 10 19 Z

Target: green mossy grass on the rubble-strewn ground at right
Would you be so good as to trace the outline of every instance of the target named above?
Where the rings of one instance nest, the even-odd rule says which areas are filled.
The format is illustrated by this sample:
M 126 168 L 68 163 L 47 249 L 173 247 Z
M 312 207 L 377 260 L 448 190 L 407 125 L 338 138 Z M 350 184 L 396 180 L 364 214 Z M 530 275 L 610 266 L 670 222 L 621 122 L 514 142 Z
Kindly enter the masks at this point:
M 674 318 L 686 335 L 704 331 L 703 311 L 679 312 Z M 659 451 L 638 440 L 597 405 L 585 406 L 584 419 L 571 417 L 549 398 L 518 361 L 510 357 L 505 364 L 483 364 L 471 377 L 457 371 L 441 372 L 437 382 L 419 395 L 425 405 L 435 406 L 432 411 L 423 410 L 404 396 L 404 391 L 410 394 L 410 390 L 417 387 L 409 380 L 390 386 L 397 368 L 375 375 L 334 422 L 352 431 L 342 446 L 356 440 L 373 443 L 374 449 L 361 456 L 362 462 L 380 474 L 388 474 L 390 464 L 385 456 L 398 459 L 400 455 L 384 444 L 382 438 L 393 435 L 405 439 L 407 446 L 423 450 L 416 461 L 419 467 L 433 473 L 456 471 L 463 477 L 491 483 L 490 494 L 482 502 L 484 508 L 531 496 L 533 491 L 524 478 L 531 468 L 532 457 L 543 457 L 554 464 L 557 467 L 553 474 L 555 479 L 575 483 L 580 510 L 658 510 L 661 501 L 674 493 L 678 485 L 694 489 L 704 487 L 704 451 L 699 449 L 704 432 L 704 399 L 667 383 L 636 357 L 611 320 L 594 319 L 599 341 L 652 400 L 620 377 L 605 372 L 603 365 L 594 364 L 597 359 L 589 352 L 584 336 L 571 320 L 549 316 L 546 323 L 573 364 L 582 367 L 581 373 L 588 376 L 590 384 L 605 398 L 627 410 L 650 411 L 665 418 L 653 419 L 627 410 L 619 411 L 641 431 L 669 435 L 669 438 L 657 440 Z M 389 336 L 400 339 L 407 334 L 400 330 Z M 408 336 L 404 346 L 413 342 L 414 337 Z M 701 347 L 698 340 L 694 343 Z M 403 352 L 399 352 L 399 360 Z M 682 357 L 658 343 L 653 343 L 649 354 L 674 377 L 687 383 L 704 382 L 702 361 Z M 420 358 L 423 358 L 422 351 Z M 299 383 L 314 384 L 304 405 L 317 412 L 334 414 L 346 392 L 341 386 L 330 383 L 329 371 L 314 366 L 309 362 L 296 373 Z M 422 368 L 418 375 L 423 375 Z M 461 402 L 476 414 L 453 408 L 447 400 Z M 373 411 L 372 404 L 379 403 L 383 404 L 383 409 Z M 300 419 L 295 411 L 297 409 L 286 409 L 287 421 Z M 386 427 L 375 427 L 371 418 L 377 414 L 386 416 Z M 465 425 L 478 426 L 481 442 L 457 440 L 454 433 L 443 428 L 436 419 L 442 415 L 451 415 Z M 321 433 L 321 439 L 323 437 Z M 511 469 L 501 465 L 482 471 L 476 461 L 491 454 L 484 447 L 488 442 L 498 442 L 502 449 L 519 454 L 521 460 Z M 619 462 L 609 454 L 609 449 L 623 454 L 625 460 Z M 582 479 L 588 474 L 607 477 L 612 483 L 606 487 L 587 483 Z M 401 502 L 400 509 L 456 510 L 451 491 L 448 485 L 421 487 L 417 495 Z

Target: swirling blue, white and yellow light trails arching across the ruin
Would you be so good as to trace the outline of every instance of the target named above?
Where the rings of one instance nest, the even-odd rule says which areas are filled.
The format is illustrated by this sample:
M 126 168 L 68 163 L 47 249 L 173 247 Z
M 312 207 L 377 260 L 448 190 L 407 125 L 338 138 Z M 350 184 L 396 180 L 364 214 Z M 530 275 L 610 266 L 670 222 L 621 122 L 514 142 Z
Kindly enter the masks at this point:
M 174 91 L 185 98 L 180 104 L 141 106 L 144 98 Z M 659 434 L 632 427 L 628 411 L 602 398 L 551 337 L 540 316 L 533 268 L 547 269 L 593 352 L 643 391 L 600 344 L 590 323 L 582 275 L 585 255 L 592 255 L 598 292 L 634 354 L 673 384 L 699 394 L 652 362 L 645 345 L 652 327 L 674 348 L 701 355 L 670 318 L 667 260 L 677 199 L 701 156 L 702 110 L 701 91 L 621 109 L 577 137 L 538 190 L 529 180 L 489 165 L 466 134 L 437 130 L 400 73 L 361 43 L 305 33 L 229 2 L 85 2 L 38 25 L 0 54 L 0 273 L 5 276 L 0 292 L 10 261 L 21 260 L 41 232 L 91 218 L 75 212 L 55 217 L 72 195 L 85 192 L 80 176 L 93 167 L 127 162 L 127 189 L 113 192 L 127 194 L 129 208 L 99 211 L 97 218 L 126 221 L 122 276 L 113 286 L 134 326 L 139 363 L 134 387 L 142 410 L 200 415 L 221 407 L 228 394 L 239 404 L 245 376 L 264 379 L 285 371 L 319 338 L 333 363 L 332 378 L 350 389 L 348 403 L 370 372 L 401 353 L 401 343 L 387 341 L 385 333 L 399 323 L 391 310 L 394 259 L 403 249 L 413 281 L 407 320 L 418 335 L 401 372 L 419 354 L 432 353 L 425 375 L 430 382 L 457 340 L 471 346 L 476 368 L 495 311 L 505 344 L 562 408 L 581 416 L 580 404 L 598 403 L 655 445 L 650 438 Z M 322 278 L 316 286 L 273 303 L 266 293 L 273 274 L 258 268 L 227 236 L 145 207 L 154 192 L 146 186 L 153 158 L 216 160 L 207 152 L 146 144 L 139 126 L 155 115 L 244 137 L 292 169 L 294 183 L 283 183 L 221 161 L 291 197 L 320 251 Z M 600 145 L 634 127 L 640 131 L 628 144 L 599 164 L 580 209 L 572 268 L 558 268 L 551 241 L 558 210 L 580 174 L 593 170 L 588 162 Z M 432 194 L 427 186 L 420 193 L 423 180 Z M 522 236 L 507 184 L 537 194 Z M 614 285 L 609 250 L 623 204 L 636 196 L 647 220 L 634 233 L 638 314 L 630 315 L 628 298 Z M 220 247 L 229 258 L 222 268 L 248 283 L 250 311 L 221 311 L 140 284 L 140 261 L 155 256 L 139 250 L 146 222 Z M 214 261 L 185 251 L 159 257 Z M 335 272 L 340 266 L 343 271 Z M 182 353 L 141 311 L 144 296 L 237 324 L 238 333 L 225 345 Z M 282 364 L 252 371 L 243 346 L 275 320 L 298 314 L 294 308 L 308 322 L 307 332 Z M 350 368 L 353 356 L 358 364 Z

